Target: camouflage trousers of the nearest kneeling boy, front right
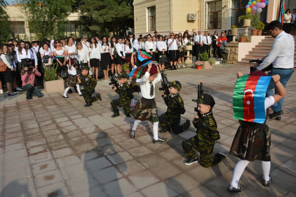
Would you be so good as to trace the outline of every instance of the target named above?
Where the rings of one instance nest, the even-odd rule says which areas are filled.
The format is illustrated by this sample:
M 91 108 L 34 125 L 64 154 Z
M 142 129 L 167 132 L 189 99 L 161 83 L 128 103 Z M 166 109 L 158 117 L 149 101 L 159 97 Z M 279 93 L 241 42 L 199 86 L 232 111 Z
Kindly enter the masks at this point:
M 182 142 L 182 148 L 185 152 L 185 155 L 187 159 L 193 159 L 197 157 L 194 149 L 198 149 L 196 146 L 196 139 L 195 136 L 189 139 L 186 139 Z M 194 148 L 194 149 L 193 149 Z M 211 157 L 211 154 L 207 153 L 200 153 L 200 162 L 202 167 L 209 167 L 212 165 L 216 165 L 221 162 L 221 157 L 219 157 L 217 154 L 213 157 Z

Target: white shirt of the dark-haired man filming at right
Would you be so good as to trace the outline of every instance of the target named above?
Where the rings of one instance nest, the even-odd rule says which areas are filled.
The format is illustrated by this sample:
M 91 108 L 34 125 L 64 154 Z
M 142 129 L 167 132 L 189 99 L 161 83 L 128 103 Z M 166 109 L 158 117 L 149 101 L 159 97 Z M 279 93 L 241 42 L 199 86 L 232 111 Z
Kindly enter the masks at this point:
M 294 50 L 295 42 L 293 36 L 282 31 L 274 39 L 268 56 L 257 69 L 262 70 L 271 63 L 273 68 L 294 68 Z

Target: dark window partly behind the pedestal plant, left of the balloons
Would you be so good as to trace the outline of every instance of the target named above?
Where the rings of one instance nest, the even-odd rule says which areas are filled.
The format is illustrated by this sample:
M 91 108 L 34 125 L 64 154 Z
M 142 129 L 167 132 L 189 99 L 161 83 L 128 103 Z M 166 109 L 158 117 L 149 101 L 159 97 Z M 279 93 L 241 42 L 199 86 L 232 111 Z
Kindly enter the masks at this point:
M 246 5 L 249 0 L 233 0 L 231 10 L 231 25 L 238 25 L 242 27 L 243 21 L 238 22 L 240 16 L 246 14 Z

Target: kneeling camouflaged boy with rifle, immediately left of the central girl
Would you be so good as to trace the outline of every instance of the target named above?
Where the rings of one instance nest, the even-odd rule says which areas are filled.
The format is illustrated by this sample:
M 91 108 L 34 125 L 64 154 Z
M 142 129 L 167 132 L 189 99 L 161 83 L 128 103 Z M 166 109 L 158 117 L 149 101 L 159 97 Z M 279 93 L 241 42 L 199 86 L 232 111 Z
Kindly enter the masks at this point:
M 121 84 L 118 88 L 114 87 L 114 90 L 117 94 L 119 94 L 119 99 L 115 99 L 111 101 L 111 107 L 114 111 L 114 114 L 111 116 L 115 118 L 119 116 L 119 110 L 117 106 L 123 108 L 124 113 L 127 117 L 131 117 L 130 108 L 131 108 L 131 99 L 133 99 L 133 93 L 131 87 L 128 85 L 126 81 L 128 75 L 125 71 L 122 71 L 118 74 L 119 83 Z

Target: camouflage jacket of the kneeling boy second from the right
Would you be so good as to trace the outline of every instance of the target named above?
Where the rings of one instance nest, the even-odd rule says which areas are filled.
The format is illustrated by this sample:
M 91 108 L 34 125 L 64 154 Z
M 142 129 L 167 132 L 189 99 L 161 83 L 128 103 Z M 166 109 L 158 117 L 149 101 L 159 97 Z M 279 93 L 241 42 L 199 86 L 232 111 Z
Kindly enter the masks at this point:
M 163 97 L 165 105 L 168 106 L 166 115 L 170 124 L 180 124 L 181 114 L 185 113 L 184 101 L 179 93 L 176 95 L 170 95 L 169 97 Z

